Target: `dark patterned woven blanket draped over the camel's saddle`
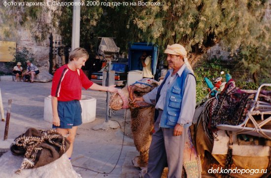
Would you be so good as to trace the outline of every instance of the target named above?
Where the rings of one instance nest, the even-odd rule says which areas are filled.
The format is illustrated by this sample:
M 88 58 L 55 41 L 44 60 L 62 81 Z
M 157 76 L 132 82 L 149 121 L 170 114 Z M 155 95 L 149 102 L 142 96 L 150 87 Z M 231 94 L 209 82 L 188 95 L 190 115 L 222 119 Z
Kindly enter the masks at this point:
M 256 91 L 246 92 L 239 89 L 231 79 L 219 95 L 219 99 L 212 103 L 211 128 L 216 128 L 219 124 L 234 126 L 242 124 L 247 117 L 247 111 L 252 107 L 255 93 Z M 258 101 L 271 105 L 271 92 L 262 90 Z

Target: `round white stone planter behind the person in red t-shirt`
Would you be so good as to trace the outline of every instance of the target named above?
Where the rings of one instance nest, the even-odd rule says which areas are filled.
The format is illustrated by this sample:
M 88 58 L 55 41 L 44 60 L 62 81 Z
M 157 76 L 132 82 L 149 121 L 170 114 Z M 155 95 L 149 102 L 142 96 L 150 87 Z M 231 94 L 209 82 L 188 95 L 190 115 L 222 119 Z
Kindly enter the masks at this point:
M 91 96 L 82 95 L 80 104 L 82 107 L 82 122 L 89 123 L 95 120 L 96 118 L 96 98 Z M 52 123 L 53 120 L 53 111 L 51 103 L 51 95 L 44 98 L 44 113 L 43 119 L 47 122 Z

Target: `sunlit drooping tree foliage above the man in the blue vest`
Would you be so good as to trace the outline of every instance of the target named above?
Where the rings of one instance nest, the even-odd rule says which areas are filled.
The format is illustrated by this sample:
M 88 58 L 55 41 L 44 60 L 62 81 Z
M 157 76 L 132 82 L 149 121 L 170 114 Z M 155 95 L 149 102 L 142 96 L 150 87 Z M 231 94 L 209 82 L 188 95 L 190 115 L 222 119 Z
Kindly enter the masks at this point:
M 271 26 L 264 21 L 267 0 L 161 0 L 164 6 L 133 8 L 130 19 L 141 40 L 181 43 L 193 54 L 203 54 L 219 41 L 236 50 L 244 46 L 270 47 Z M 270 7 L 269 7 L 270 8 Z

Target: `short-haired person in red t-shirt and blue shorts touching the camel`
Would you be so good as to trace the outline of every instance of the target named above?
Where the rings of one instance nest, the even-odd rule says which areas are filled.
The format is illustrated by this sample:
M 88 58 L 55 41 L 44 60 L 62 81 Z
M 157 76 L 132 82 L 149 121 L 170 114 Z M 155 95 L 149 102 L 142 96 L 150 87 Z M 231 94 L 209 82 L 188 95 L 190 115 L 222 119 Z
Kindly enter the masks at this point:
M 84 48 L 76 48 L 69 55 L 69 63 L 59 68 L 53 78 L 51 96 L 53 109 L 53 128 L 66 136 L 70 147 L 67 155 L 70 159 L 73 142 L 77 127 L 82 124 L 82 108 L 79 100 L 81 99 L 82 87 L 86 90 L 118 91 L 115 85 L 109 87 L 93 83 L 88 79 L 81 67 L 88 60 L 88 52 Z

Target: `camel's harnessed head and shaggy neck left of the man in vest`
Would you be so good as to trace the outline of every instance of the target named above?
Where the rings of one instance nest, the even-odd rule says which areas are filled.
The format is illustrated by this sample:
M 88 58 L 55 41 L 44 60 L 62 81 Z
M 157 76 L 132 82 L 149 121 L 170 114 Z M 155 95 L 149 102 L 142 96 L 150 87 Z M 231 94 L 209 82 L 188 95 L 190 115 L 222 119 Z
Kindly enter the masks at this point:
M 144 83 L 144 84 L 143 84 Z M 135 85 L 130 85 L 119 90 L 117 94 L 111 96 L 110 108 L 119 110 L 121 108 L 130 108 L 131 110 L 131 130 L 134 143 L 139 156 L 132 162 L 135 167 L 146 167 L 148 163 L 148 153 L 153 132 L 154 105 L 138 103 L 141 107 L 130 107 L 128 100 L 135 97 L 141 97 L 158 86 L 158 82 L 153 79 L 143 78 Z

